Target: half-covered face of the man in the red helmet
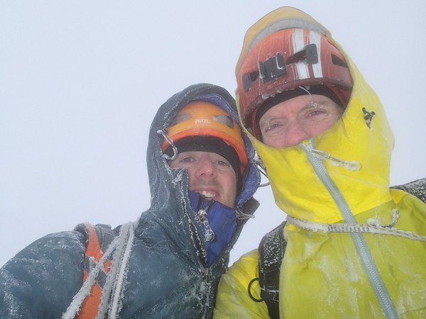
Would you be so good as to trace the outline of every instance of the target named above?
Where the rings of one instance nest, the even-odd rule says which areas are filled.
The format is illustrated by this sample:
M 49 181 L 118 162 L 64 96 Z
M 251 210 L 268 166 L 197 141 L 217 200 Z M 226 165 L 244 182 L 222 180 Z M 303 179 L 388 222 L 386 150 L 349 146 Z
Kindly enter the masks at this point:
M 262 141 L 272 147 L 295 146 L 320 135 L 343 114 L 344 108 L 323 95 L 301 95 L 266 111 L 259 121 Z

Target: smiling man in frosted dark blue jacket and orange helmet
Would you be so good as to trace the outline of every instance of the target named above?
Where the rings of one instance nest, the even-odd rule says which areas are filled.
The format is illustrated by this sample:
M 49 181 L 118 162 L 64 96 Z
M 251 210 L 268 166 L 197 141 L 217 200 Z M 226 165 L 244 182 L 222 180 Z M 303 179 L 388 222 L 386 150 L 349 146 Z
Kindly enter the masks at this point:
M 210 318 L 229 251 L 258 207 L 253 154 L 225 89 L 195 84 L 175 94 L 151 125 L 148 211 L 114 230 L 78 225 L 18 252 L 0 269 L 0 318 L 91 318 L 85 303 L 98 284 L 99 318 Z M 92 230 L 100 257 L 88 253 Z

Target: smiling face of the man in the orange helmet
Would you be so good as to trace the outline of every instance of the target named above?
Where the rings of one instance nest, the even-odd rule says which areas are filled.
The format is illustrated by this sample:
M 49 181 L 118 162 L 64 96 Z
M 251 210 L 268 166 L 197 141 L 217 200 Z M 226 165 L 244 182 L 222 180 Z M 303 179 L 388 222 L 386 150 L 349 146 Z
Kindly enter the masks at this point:
M 236 175 L 231 164 L 213 152 L 181 152 L 169 161 L 172 168 L 185 167 L 190 175 L 190 191 L 234 207 Z

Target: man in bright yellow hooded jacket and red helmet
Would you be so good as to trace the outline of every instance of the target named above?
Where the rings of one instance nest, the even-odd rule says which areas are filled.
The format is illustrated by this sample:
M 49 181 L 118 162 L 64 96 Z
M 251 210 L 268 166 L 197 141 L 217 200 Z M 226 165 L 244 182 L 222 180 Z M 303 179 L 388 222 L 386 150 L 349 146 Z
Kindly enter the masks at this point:
M 389 188 L 383 106 L 332 35 L 283 7 L 246 33 L 237 106 L 288 214 L 280 318 L 426 318 L 426 204 Z M 414 155 L 414 154 L 413 154 Z M 268 318 L 258 250 L 222 276 L 216 318 Z

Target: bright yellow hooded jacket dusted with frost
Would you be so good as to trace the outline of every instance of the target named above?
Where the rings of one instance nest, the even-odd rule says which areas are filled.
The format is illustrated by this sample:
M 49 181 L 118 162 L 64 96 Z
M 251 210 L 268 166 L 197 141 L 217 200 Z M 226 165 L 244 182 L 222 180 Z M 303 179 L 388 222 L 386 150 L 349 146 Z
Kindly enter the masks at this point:
M 251 38 L 282 17 L 313 21 L 293 8 L 269 13 L 246 33 L 237 69 Z M 249 134 L 275 203 L 289 216 L 280 318 L 426 318 L 426 204 L 389 189 L 394 140 L 383 106 L 332 41 L 346 56 L 354 80 L 342 119 L 295 147 L 268 147 Z M 371 123 L 366 111 L 374 112 Z M 391 235 L 323 231 L 336 223 L 378 225 L 391 228 Z M 253 250 L 222 276 L 214 316 L 268 318 L 266 304 L 247 293 L 256 277 L 258 253 Z M 258 281 L 251 292 L 260 298 Z

